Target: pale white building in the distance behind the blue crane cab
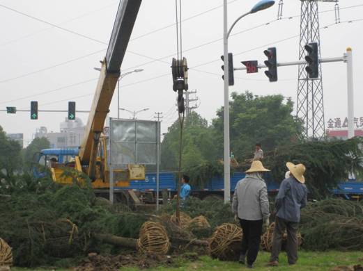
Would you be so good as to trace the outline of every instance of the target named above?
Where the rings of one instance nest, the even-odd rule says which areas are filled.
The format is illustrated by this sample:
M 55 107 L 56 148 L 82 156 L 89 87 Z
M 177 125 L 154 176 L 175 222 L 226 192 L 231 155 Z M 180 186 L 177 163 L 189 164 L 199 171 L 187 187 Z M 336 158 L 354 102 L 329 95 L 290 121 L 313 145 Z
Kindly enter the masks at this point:
M 51 148 L 79 147 L 84 136 L 85 126 L 82 120 L 76 117 L 75 120 L 65 118 L 60 124 L 60 132 L 48 132 L 47 128 L 41 126 L 36 130 L 35 138 L 47 138 Z

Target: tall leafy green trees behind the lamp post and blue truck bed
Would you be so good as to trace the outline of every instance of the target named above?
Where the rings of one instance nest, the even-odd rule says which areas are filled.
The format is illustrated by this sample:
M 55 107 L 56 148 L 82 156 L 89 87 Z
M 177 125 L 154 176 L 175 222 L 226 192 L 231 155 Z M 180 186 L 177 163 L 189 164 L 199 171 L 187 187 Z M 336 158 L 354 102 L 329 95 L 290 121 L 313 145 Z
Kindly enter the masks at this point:
M 279 145 L 295 142 L 302 124 L 291 113 L 293 102 L 284 103 L 282 95 L 258 97 L 251 92 L 232 94 L 230 102 L 231 151 L 238 161 L 252 158 L 256 142 L 269 151 Z M 183 171 L 194 184 L 203 185 L 221 172 L 217 161 L 223 156 L 223 108 L 217 111 L 213 125 L 197 113 L 190 114 L 183 129 Z M 177 170 L 180 124 L 169 128 L 162 142 L 162 170 Z

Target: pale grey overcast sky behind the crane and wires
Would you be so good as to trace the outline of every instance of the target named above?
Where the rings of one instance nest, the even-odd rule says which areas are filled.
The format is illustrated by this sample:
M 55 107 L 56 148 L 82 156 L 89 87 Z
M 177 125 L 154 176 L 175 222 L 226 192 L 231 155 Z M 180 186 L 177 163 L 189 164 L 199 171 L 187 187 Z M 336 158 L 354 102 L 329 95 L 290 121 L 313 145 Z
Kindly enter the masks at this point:
M 234 19 L 252 8 L 256 0 L 229 2 L 231 25 Z M 276 21 L 275 4 L 268 10 L 249 15 L 235 26 L 229 38 L 235 67 L 241 66 L 242 60 L 262 63 L 265 60 L 263 49 L 270 46 L 277 47 L 278 62 L 298 60 L 300 1 L 284 2 L 285 19 Z M 208 121 L 223 105 L 222 60 L 219 58 L 223 52 L 222 3 L 222 0 L 183 1 L 183 19 L 192 17 L 183 22 L 183 56 L 190 68 L 195 67 L 189 71 L 190 90 L 197 90 L 199 108 L 196 111 Z M 339 4 L 342 23 L 334 25 L 334 3 L 319 3 L 320 12 L 330 10 L 320 13 L 322 57 L 342 56 L 346 47 L 353 48 L 355 116 L 362 117 L 363 0 L 342 0 Z M 171 0 L 141 3 L 121 67 L 121 73 L 144 69 L 122 79 L 121 107 L 128 110 L 150 108 L 137 115 L 145 120 L 153 119 L 157 111 L 163 112 L 163 132 L 176 120 L 176 93 L 172 90 L 170 68 L 171 58 L 176 55 L 174 5 L 175 1 Z M 78 110 L 89 110 L 99 75 L 93 67 L 100 67 L 99 61 L 105 56 L 107 45 L 104 43 L 109 42 L 117 8 L 118 1 L 112 0 L 0 0 L 1 109 L 6 106 L 29 109 L 30 101 L 35 100 L 40 110 L 66 110 L 68 101 L 76 101 Z M 265 24 L 268 22 L 270 24 Z M 160 28 L 162 30 L 156 31 Z M 206 45 L 199 47 L 202 44 Z M 250 90 L 254 95 L 281 94 L 296 101 L 298 67 L 279 67 L 278 74 L 279 81 L 269 83 L 262 71 L 258 74 L 238 71 L 230 90 Z M 330 117 L 346 117 L 345 64 L 323 64 L 323 90 L 325 122 Z M 111 117 L 117 116 L 116 105 L 115 92 Z M 66 117 L 66 113 L 39 113 L 38 120 L 30 120 L 29 115 L 0 112 L 0 125 L 7 133 L 24 133 L 26 145 L 36 128 L 46 126 L 48 131 L 59 131 L 59 123 Z M 88 115 L 79 113 L 77 117 L 86 123 Z M 121 111 L 121 117 L 131 115 Z

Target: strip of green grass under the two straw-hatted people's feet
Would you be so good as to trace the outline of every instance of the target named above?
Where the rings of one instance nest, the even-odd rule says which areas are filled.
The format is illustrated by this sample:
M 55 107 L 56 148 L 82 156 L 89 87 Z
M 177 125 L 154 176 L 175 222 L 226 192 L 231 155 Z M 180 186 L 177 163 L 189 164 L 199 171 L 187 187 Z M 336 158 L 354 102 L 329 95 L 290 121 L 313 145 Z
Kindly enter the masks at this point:
M 363 265 L 363 252 L 299 252 L 299 260 L 296 265 L 288 265 L 286 254 L 280 254 L 280 264 L 278 268 L 266 267 L 270 254 L 267 252 L 260 252 L 258 254 L 254 270 L 332 270 L 332 268 L 339 265 Z M 160 266 L 158 268 L 148 269 L 150 271 L 176 271 L 176 270 L 203 270 L 203 271 L 217 271 L 217 270 L 247 270 L 244 265 L 234 262 L 218 261 L 210 258 L 209 256 L 201 256 L 198 261 L 190 262 L 180 259 L 177 264 L 178 267 L 170 268 Z M 29 268 L 12 268 L 12 271 L 25 271 L 25 270 L 38 270 L 50 271 L 52 269 L 29 269 Z M 56 269 L 66 270 L 66 269 Z M 122 271 L 139 271 L 139 268 L 121 268 Z

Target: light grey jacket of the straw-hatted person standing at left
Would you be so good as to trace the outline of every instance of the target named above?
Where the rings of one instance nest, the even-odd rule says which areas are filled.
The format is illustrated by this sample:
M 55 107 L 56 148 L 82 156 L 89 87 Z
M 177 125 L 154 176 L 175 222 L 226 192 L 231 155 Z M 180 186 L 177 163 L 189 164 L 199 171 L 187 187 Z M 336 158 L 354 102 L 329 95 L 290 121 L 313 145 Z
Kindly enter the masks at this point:
M 270 216 L 265 181 L 247 175 L 235 186 L 232 212 L 242 220 L 265 220 Z

